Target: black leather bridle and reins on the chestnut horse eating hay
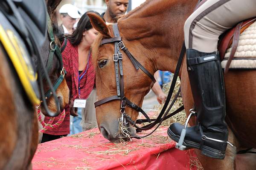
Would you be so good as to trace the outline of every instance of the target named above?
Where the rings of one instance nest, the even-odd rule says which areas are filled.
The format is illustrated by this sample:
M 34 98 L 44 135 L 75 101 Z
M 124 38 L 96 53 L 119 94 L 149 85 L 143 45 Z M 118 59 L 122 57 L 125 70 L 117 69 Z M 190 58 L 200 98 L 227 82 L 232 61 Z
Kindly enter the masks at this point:
M 133 63 L 135 69 L 141 69 L 146 75 L 148 75 L 149 78 L 151 78 L 151 80 L 155 83 L 156 80 L 154 78 L 153 75 L 151 75 L 150 72 L 148 72 L 147 69 L 145 69 L 145 67 L 143 67 L 137 60 L 136 58 L 134 58 L 133 55 L 131 55 L 131 53 L 129 52 L 129 50 L 125 47 L 123 41 L 122 41 L 122 37 L 120 37 L 119 35 L 119 29 L 118 29 L 118 25 L 117 23 L 114 23 L 113 24 L 113 33 L 114 33 L 114 36 L 113 38 L 107 38 L 107 39 L 103 39 L 102 42 L 101 42 L 101 45 L 103 44 L 106 44 L 106 43 L 114 43 L 114 54 L 113 54 L 113 61 L 114 61 L 114 64 L 115 64 L 115 75 L 116 75 L 116 91 L 117 91 L 117 95 L 113 95 L 111 97 L 108 97 L 108 98 L 104 98 L 100 101 L 97 101 L 95 102 L 95 107 L 97 106 L 100 106 L 102 104 L 105 104 L 109 101 L 113 101 L 113 100 L 120 100 L 121 101 L 121 104 L 120 104 L 120 113 L 121 113 L 121 119 L 122 118 L 126 118 L 128 120 L 128 122 L 130 124 L 132 124 L 134 127 L 137 128 L 137 132 L 141 132 L 142 130 L 149 130 L 151 129 L 152 127 L 154 127 L 156 124 L 157 127 L 151 132 L 153 133 L 159 126 L 160 124 L 166 120 L 167 118 L 170 118 L 171 116 L 177 114 L 178 112 L 182 111 L 184 109 L 183 106 L 181 106 L 180 108 L 178 108 L 175 112 L 172 112 L 171 114 L 168 115 L 170 109 L 172 108 L 173 104 L 175 103 L 179 93 L 180 93 L 180 89 L 179 91 L 177 92 L 174 100 L 172 101 L 172 103 L 170 104 L 169 108 L 166 110 L 166 108 L 168 107 L 168 104 L 169 104 L 169 101 L 171 100 L 171 97 L 172 97 L 172 93 L 174 91 L 174 88 L 175 88 L 175 84 L 176 84 L 176 81 L 177 81 L 177 77 L 178 77 L 178 74 L 179 74 L 179 71 L 180 71 L 180 67 L 181 67 L 181 64 L 182 64 L 182 61 L 183 61 L 183 57 L 185 55 L 185 52 L 186 52 L 186 47 L 185 47 L 185 43 L 183 43 L 183 46 L 182 46 L 182 50 L 180 52 L 180 57 L 179 57 L 179 60 L 178 60 L 178 63 L 177 63 L 177 66 L 176 66 L 176 70 L 175 70 L 175 73 L 174 73 L 174 76 L 173 76 L 173 79 L 172 79 L 172 84 L 170 86 L 170 90 L 169 90 L 169 94 L 166 98 L 166 102 L 163 106 L 163 109 L 161 110 L 160 114 L 158 115 L 158 117 L 156 119 L 150 119 L 148 117 L 148 115 L 143 111 L 142 108 L 140 108 L 137 104 L 134 104 L 132 103 L 130 100 L 128 100 L 125 95 L 124 95 L 124 82 L 123 82 L 123 68 L 122 68 L 122 53 L 120 51 L 123 50 L 125 52 L 125 54 L 128 56 L 128 58 L 130 59 L 131 63 Z M 134 122 L 131 117 L 129 115 L 127 115 L 125 113 L 125 107 L 126 105 L 128 107 L 131 107 L 132 109 L 135 109 L 137 110 L 138 112 L 141 112 L 146 120 L 144 119 L 140 119 L 140 120 L 137 120 L 136 122 Z M 165 112 L 166 111 L 166 112 Z M 163 116 L 163 117 L 162 117 Z M 151 121 L 154 121 L 151 123 Z M 151 124 L 148 124 L 144 127 L 138 127 L 136 125 L 136 123 L 143 123 L 143 122 L 149 122 Z M 149 133 L 148 135 L 150 135 L 151 133 Z M 145 136 L 133 136 L 135 138 L 142 138 L 142 137 L 146 137 L 148 135 L 145 135 Z

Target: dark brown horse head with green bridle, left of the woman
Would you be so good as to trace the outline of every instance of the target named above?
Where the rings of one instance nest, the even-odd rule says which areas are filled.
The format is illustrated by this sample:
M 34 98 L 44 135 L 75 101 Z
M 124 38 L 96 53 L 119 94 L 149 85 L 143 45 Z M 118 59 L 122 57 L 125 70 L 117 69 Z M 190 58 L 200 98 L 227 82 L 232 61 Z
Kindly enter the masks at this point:
M 65 74 L 63 68 L 61 68 L 62 67 L 61 66 L 62 59 L 61 59 L 61 55 L 57 54 L 58 52 L 55 51 L 53 54 L 52 60 L 49 59 L 51 49 L 54 49 L 55 46 L 58 46 L 59 49 L 61 47 L 61 42 L 58 39 L 58 37 L 60 37 L 62 32 L 60 32 L 58 29 L 57 12 L 55 11 L 55 9 L 57 8 L 57 6 L 59 5 L 60 2 L 61 2 L 61 0 L 46 0 L 47 11 L 48 11 L 51 23 L 52 23 L 51 24 L 52 33 L 55 38 L 55 41 L 54 41 L 54 43 L 51 43 L 51 37 L 50 37 L 51 35 L 50 34 L 52 34 L 52 33 L 50 33 L 49 26 L 48 26 L 48 36 L 41 48 L 41 55 L 44 58 L 44 64 L 45 64 L 45 66 L 47 66 L 48 75 L 49 75 L 49 78 L 53 85 L 55 84 L 56 81 L 58 81 L 58 78 L 61 75 L 64 76 L 64 74 Z M 47 85 L 47 83 L 44 83 L 44 92 L 47 92 L 48 90 L 49 90 L 49 85 Z M 62 112 L 64 110 L 64 107 L 69 102 L 69 89 L 68 89 L 65 79 L 59 84 L 55 93 L 57 95 L 58 103 L 60 106 L 59 110 L 60 110 L 60 112 Z M 58 108 L 55 103 L 55 98 L 53 96 L 51 96 L 49 98 L 47 98 L 45 96 L 43 96 L 43 97 L 46 98 L 48 109 L 51 112 L 57 112 Z M 47 112 L 43 107 L 41 107 L 41 112 L 44 115 L 47 115 Z

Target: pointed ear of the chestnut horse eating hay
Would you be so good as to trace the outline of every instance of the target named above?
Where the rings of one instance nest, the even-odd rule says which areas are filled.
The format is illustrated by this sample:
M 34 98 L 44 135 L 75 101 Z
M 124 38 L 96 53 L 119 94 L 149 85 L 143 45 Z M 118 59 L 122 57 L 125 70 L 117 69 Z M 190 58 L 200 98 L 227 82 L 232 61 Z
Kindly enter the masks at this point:
M 92 26 L 94 29 L 96 29 L 98 32 L 102 33 L 105 37 L 110 37 L 108 26 L 107 24 L 102 20 L 99 15 L 95 13 L 87 13 L 88 17 L 90 18 L 90 22 L 92 23 Z

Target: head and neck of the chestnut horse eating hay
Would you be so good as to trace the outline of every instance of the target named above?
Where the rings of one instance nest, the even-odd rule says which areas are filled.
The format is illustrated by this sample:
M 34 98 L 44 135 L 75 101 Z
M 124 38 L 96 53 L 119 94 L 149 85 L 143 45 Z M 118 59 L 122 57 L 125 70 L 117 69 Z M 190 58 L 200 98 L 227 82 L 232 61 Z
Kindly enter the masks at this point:
M 132 103 L 132 106 L 129 106 L 130 102 L 126 100 L 128 107 L 125 108 L 125 113 L 128 115 L 126 118 L 132 119 L 126 125 L 131 136 L 136 134 L 133 122 L 136 121 L 138 111 L 140 111 L 140 108 L 137 108 L 142 106 L 144 96 L 153 85 L 154 78 L 151 76 L 157 70 L 175 72 L 179 50 L 182 46 L 183 24 L 189 14 L 177 13 L 176 7 L 179 6 L 179 11 L 192 11 L 191 7 L 184 5 L 185 3 L 186 1 L 146 1 L 134 11 L 119 18 L 117 29 L 119 29 L 120 36 L 113 33 L 114 25 L 107 26 L 99 17 L 88 14 L 93 27 L 101 33 L 93 44 L 98 96 L 96 118 L 101 133 L 108 140 L 119 141 L 122 95 L 120 99 L 116 97 L 119 96 L 116 84 L 119 84 L 117 81 L 122 81 L 120 72 L 123 72 L 123 96 Z M 193 1 L 194 3 L 196 2 Z M 113 39 L 113 37 L 119 38 Z M 108 40 L 105 39 L 110 42 L 106 43 Z M 121 50 L 123 45 L 125 48 Z M 113 55 L 116 51 L 115 46 L 122 53 L 122 71 L 119 68 L 121 55 L 120 57 L 118 55 L 117 67 L 113 61 L 116 57 Z M 128 53 L 134 55 L 134 58 L 131 59 Z M 122 89 L 121 84 L 119 88 Z M 136 104 L 135 107 L 134 104 Z M 122 133 L 121 137 L 123 136 Z

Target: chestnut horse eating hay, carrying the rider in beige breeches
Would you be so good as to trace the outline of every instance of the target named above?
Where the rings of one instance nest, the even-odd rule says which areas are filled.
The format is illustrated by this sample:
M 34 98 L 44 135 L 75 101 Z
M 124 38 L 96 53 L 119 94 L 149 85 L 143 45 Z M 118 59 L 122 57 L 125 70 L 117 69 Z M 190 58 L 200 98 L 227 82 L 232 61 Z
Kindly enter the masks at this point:
M 183 26 L 192 13 L 198 0 L 152 0 L 146 1 L 134 11 L 118 20 L 120 37 L 125 46 L 151 74 L 157 70 L 175 72 L 180 49 L 183 43 Z M 115 66 L 113 63 L 114 44 L 100 45 L 102 39 L 114 37 L 113 26 L 107 26 L 101 18 L 88 14 L 93 27 L 101 34 L 93 44 L 93 58 L 96 64 L 96 86 L 98 100 L 116 95 Z M 133 103 L 142 105 L 152 81 L 140 69 L 136 70 L 123 52 L 124 92 Z M 183 62 L 181 94 L 186 113 L 193 108 L 186 62 Z M 225 75 L 227 101 L 227 122 L 229 141 L 236 147 L 227 147 L 224 160 L 202 156 L 198 157 L 205 169 L 231 170 L 235 166 L 236 151 L 243 147 L 256 147 L 256 91 L 255 70 L 230 70 Z M 126 113 L 135 121 L 138 112 L 126 108 Z M 105 138 L 118 141 L 120 101 L 113 100 L 96 107 L 98 127 Z M 190 124 L 194 122 L 191 120 Z M 232 129 L 232 130 L 231 130 Z M 129 129 L 135 135 L 134 129 Z M 253 157 L 251 157 L 253 158 Z M 253 158 L 255 161 L 255 158 Z M 251 162 L 250 162 L 251 163 Z M 247 164 L 247 168 L 249 164 Z M 254 166 L 255 164 L 251 164 Z

